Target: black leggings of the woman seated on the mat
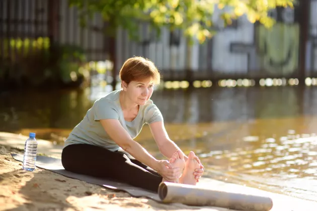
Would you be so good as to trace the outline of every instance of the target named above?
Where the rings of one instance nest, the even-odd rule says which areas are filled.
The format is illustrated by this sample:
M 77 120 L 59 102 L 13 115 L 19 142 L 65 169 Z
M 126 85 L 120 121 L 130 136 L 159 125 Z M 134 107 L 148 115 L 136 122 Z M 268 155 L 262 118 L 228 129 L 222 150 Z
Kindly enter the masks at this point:
M 125 151 L 112 152 L 90 144 L 72 144 L 62 151 L 67 171 L 109 178 L 157 192 L 163 177 Z

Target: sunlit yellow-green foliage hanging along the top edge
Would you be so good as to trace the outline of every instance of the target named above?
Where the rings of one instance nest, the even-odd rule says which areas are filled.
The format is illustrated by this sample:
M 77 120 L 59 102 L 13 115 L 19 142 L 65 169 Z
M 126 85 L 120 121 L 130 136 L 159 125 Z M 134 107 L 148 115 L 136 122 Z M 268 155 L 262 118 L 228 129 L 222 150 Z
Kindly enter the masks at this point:
M 137 38 L 138 21 L 145 21 L 157 32 L 162 27 L 182 29 L 201 43 L 215 33 L 212 16 L 216 7 L 221 10 L 224 25 L 246 15 L 251 23 L 258 21 L 269 28 L 275 21 L 268 12 L 276 7 L 293 8 L 294 3 L 295 0 L 69 0 L 70 7 L 79 9 L 82 25 L 97 12 L 109 23 L 109 32 L 121 26 Z

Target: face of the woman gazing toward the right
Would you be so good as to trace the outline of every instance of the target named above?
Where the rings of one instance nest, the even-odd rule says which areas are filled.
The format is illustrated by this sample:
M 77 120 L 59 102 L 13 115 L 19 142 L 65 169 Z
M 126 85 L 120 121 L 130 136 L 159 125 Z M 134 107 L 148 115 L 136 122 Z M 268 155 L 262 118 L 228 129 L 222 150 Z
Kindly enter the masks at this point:
M 131 81 L 128 85 L 123 81 L 122 87 L 130 100 L 139 105 L 144 105 L 153 93 L 153 82 L 151 79 Z

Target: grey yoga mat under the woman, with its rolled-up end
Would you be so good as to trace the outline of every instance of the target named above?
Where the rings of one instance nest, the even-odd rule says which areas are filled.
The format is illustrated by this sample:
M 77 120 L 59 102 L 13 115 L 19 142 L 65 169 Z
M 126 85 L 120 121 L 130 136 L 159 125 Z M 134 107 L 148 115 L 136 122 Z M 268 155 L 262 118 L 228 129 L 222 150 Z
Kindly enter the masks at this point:
M 23 155 L 11 154 L 18 161 L 23 161 Z M 36 166 L 63 176 L 82 180 L 91 184 L 101 185 L 110 189 L 128 192 L 134 197 L 147 197 L 164 203 L 183 203 L 195 206 L 217 206 L 235 210 L 268 211 L 273 207 L 270 197 L 231 193 L 225 191 L 211 190 L 194 185 L 162 182 L 158 194 L 134 187 L 117 181 L 76 174 L 66 171 L 61 160 L 46 156 L 36 157 Z

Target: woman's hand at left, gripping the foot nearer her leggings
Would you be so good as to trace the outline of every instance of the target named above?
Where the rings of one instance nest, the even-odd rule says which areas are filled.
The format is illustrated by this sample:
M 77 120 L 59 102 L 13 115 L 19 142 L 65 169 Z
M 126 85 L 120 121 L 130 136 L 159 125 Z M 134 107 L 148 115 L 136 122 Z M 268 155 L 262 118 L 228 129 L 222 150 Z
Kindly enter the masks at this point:
M 173 168 L 172 164 L 167 160 L 157 161 L 157 166 L 155 170 L 169 182 L 174 182 L 178 180 L 178 177 L 182 173 L 180 168 Z

